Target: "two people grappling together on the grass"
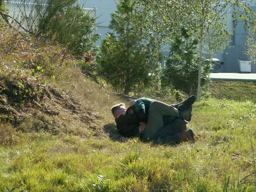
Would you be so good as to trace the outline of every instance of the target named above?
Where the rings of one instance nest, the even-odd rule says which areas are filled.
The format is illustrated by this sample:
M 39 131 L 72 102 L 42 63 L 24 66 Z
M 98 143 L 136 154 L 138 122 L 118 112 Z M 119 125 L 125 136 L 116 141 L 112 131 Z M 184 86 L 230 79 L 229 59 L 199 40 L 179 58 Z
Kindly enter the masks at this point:
M 194 95 L 174 105 L 139 98 L 128 110 L 124 103 L 119 103 L 111 111 L 118 132 L 125 137 L 137 136 L 144 142 L 153 141 L 154 144 L 178 144 L 195 140 L 193 131 L 187 130 L 194 102 Z

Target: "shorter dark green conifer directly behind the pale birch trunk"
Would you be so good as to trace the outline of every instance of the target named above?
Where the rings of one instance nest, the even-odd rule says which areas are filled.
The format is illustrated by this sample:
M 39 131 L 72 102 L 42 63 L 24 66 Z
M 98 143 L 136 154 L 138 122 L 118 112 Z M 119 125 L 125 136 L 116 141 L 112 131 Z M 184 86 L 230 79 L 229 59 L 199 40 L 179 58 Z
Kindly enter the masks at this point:
M 182 28 L 180 33 L 172 38 L 169 58 L 163 69 L 162 83 L 165 86 L 173 84 L 175 89 L 192 95 L 196 93 L 198 60 L 196 52 L 197 39 L 192 39 L 188 30 Z M 210 64 L 203 65 L 202 86 L 209 83 Z

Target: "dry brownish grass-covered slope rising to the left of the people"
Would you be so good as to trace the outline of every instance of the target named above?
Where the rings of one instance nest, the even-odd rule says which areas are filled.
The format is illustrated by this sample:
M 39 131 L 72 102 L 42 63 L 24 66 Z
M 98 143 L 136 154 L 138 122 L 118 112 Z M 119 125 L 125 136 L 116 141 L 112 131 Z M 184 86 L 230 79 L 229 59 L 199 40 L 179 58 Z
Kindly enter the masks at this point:
M 18 132 L 109 136 L 104 125 L 113 121 L 109 109 L 118 98 L 87 79 L 77 67 L 81 61 L 5 27 L 0 52 L 1 143 L 12 143 Z

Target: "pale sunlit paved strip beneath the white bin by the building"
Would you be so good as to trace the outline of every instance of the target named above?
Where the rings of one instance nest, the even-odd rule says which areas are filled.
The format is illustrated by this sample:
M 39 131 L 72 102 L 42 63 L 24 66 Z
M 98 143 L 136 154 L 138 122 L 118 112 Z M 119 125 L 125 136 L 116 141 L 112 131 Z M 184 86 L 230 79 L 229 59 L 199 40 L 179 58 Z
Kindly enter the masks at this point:
M 239 73 L 212 73 L 212 80 L 215 81 L 245 81 L 256 82 L 256 74 L 239 74 Z

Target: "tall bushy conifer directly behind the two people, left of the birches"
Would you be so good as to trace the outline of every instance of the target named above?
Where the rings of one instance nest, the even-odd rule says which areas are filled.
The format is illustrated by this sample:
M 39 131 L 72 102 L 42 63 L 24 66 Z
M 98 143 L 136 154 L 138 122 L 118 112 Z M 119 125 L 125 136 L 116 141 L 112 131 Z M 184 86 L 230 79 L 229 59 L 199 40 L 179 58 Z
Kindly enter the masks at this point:
M 136 6 L 136 0 L 119 1 L 109 26 L 116 35 L 109 33 L 101 44 L 102 77 L 114 90 L 124 94 L 149 85 L 157 65 L 152 62 L 150 46 L 142 37 L 143 17 L 136 14 Z

